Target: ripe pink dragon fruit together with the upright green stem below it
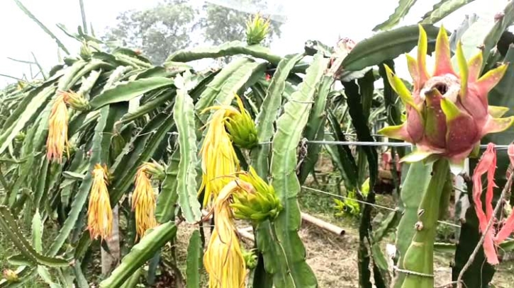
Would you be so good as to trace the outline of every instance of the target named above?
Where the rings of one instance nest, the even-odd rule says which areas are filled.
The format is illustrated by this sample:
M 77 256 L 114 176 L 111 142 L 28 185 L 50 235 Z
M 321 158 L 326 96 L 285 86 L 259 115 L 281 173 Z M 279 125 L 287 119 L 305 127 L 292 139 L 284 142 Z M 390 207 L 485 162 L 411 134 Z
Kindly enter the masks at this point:
M 452 67 L 449 40 L 441 27 L 435 45 L 435 69 L 430 75 L 425 61 L 427 34 L 421 25 L 419 29 L 418 59 L 407 55 L 412 91 L 385 67 L 389 83 L 406 107 L 406 121 L 380 131 L 415 145 L 415 151 L 401 159 L 413 163 L 401 192 L 405 211 L 396 240 L 400 255 L 394 287 L 405 288 L 434 287 L 435 229 L 452 190 L 452 173 L 462 172 L 464 160 L 478 154 L 484 135 L 502 132 L 514 122 L 514 117 L 501 117 L 508 108 L 488 105 L 487 99 L 507 64 L 480 76 L 482 53 L 466 62 L 459 42 L 457 67 Z M 425 184 L 420 185 L 423 180 Z

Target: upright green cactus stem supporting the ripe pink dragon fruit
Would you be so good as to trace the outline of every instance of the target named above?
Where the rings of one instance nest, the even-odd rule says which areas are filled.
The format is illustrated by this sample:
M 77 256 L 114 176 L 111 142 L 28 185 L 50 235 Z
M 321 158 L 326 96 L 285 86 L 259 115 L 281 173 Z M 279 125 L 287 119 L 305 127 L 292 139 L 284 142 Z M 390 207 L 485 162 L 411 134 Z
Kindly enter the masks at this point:
M 430 183 L 423 192 L 423 198 L 418 207 L 417 221 L 414 226 L 401 227 L 401 229 L 414 229 L 415 233 L 405 255 L 401 256 L 398 263 L 397 273 L 404 276 L 396 278 L 394 287 L 434 287 L 434 241 L 442 195 L 448 192 L 449 175 L 447 159 L 437 160 L 432 165 Z

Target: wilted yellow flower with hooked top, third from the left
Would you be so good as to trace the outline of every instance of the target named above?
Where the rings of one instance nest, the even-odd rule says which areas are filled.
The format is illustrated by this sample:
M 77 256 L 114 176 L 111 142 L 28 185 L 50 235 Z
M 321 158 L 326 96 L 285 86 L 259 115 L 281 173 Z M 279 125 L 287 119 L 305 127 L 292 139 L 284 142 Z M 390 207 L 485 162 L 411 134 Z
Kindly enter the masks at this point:
M 164 168 L 158 163 L 143 163 L 135 174 L 132 211 L 135 211 L 135 228 L 139 237 L 143 237 L 147 229 L 157 226 L 155 192 L 150 182 L 150 175 L 161 173 L 161 171 L 164 173 Z

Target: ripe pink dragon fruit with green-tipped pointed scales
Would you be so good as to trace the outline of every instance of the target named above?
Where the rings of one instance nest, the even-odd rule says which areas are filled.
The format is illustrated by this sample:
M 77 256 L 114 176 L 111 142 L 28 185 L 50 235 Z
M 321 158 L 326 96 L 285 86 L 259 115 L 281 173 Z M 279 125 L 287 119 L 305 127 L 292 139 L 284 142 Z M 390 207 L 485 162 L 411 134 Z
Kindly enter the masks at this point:
M 415 144 L 416 150 L 401 161 L 429 161 L 444 157 L 452 173 L 460 173 L 464 160 L 477 149 L 480 139 L 489 133 L 508 129 L 514 117 L 501 118 L 508 108 L 488 105 L 487 95 L 505 74 L 508 64 L 491 69 L 479 77 L 482 53 L 466 62 L 462 44 L 457 44 L 456 74 L 451 62 L 448 35 L 441 27 L 435 44 L 435 69 L 426 67 L 427 34 L 419 25 L 418 59 L 407 56 L 413 78 L 413 90 L 385 65 L 386 74 L 406 106 L 406 121 L 379 132 L 387 137 Z

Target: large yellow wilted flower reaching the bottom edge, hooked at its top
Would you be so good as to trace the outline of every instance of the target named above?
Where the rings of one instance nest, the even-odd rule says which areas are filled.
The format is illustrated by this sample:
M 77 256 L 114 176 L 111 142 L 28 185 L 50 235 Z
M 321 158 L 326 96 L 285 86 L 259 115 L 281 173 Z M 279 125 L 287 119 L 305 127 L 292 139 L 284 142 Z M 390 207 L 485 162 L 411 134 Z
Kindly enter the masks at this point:
M 242 181 L 240 181 L 242 182 Z M 213 203 L 214 229 L 203 255 L 203 265 L 209 275 L 209 288 L 245 287 L 246 265 L 236 233 L 234 215 L 230 209 L 230 195 L 248 183 L 236 180 L 220 190 Z

